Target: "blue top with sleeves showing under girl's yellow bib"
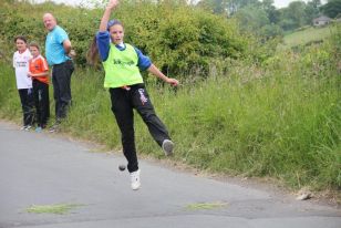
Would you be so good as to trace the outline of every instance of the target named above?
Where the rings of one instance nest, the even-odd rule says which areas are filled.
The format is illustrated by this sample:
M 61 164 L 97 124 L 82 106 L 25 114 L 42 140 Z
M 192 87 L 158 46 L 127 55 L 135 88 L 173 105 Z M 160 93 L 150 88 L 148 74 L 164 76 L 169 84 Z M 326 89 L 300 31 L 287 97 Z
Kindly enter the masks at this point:
M 110 51 L 110 43 L 111 43 L 111 38 L 110 33 L 107 31 L 105 32 L 97 32 L 96 34 L 96 41 L 97 41 L 97 48 L 100 52 L 101 60 L 104 62 L 107 56 L 108 56 L 108 51 Z M 125 44 L 123 46 L 121 45 L 115 45 L 120 51 L 125 50 Z M 145 71 L 152 65 L 152 61 L 148 56 L 144 55 L 138 49 L 134 46 L 136 53 L 137 53 L 137 66 L 140 70 Z

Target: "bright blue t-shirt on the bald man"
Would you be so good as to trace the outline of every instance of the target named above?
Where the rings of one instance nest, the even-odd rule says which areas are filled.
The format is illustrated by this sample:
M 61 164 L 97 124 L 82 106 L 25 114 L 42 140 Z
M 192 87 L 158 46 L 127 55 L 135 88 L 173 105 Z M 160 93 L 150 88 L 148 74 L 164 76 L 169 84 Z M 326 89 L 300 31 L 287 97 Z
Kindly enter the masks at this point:
M 63 48 L 64 40 L 69 40 L 68 33 L 59 25 L 55 25 L 54 29 L 48 33 L 45 55 L 49 65 L 60 64 L 70 60 Z

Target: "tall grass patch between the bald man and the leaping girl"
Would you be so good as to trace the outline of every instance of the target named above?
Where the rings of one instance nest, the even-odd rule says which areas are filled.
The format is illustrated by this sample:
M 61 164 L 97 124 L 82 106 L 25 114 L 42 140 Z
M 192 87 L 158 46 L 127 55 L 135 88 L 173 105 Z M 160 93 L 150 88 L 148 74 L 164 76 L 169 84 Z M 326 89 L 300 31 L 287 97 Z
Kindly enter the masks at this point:
M 104 74 L 81 70 L 72 81 L 73 104 L 65 131 L 87 139 L 117 148 L 121 142 L 115 118 L 111 112 L 108 92 L 103 89 Z

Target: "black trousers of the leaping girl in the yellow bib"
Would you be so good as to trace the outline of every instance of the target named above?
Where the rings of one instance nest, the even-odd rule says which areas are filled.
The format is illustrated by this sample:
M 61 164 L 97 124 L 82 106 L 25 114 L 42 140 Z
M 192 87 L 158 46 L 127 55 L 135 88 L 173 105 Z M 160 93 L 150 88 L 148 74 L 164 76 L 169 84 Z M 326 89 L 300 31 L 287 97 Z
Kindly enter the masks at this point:
M 157 117 L 149 95 L 144 84 L 136 84 L 126 89 L 110 89 L 112 111 L 122 134 L 123 154 L 128 164 L 130 173 L 138 169 L 135 148 L 134 112 L 143 118 L 156 143 L 162 146 L 164 139 L 169 139 L 166 126 Z

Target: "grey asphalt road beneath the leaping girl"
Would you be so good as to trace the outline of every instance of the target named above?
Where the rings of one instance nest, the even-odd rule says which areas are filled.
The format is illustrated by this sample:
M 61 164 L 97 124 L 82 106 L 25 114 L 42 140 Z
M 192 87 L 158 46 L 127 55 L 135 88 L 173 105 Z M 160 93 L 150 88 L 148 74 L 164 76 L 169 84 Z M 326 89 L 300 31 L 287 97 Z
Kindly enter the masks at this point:
M 142 188 L 133 191 L 121 163 L 120 154 L 0 122 L 0 227 L 341 228 L 338 208 L 151 160 L 140 160 Z M 28 211 L 55 204 L 78 206 L 64 215 Z

